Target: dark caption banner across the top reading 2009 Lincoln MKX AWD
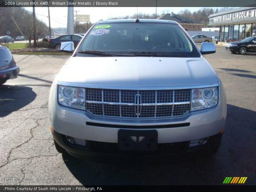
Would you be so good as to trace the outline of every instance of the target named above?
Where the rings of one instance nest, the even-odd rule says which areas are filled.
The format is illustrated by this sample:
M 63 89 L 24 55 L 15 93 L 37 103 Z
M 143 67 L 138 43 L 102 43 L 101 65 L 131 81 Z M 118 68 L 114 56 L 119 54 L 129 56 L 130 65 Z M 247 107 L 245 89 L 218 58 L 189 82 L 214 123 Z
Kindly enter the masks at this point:
M 0 0 L 0 7 L 253 7 L 255 0 Z

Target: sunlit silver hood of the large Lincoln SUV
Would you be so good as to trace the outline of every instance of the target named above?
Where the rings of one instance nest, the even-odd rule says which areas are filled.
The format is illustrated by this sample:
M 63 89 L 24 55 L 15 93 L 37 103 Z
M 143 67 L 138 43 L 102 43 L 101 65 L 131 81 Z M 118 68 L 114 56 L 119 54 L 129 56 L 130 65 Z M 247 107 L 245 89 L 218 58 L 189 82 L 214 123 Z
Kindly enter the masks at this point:
M 200 87 L 218 78 L 204 58 L 71 57 L 57 81 L 97 88 Z

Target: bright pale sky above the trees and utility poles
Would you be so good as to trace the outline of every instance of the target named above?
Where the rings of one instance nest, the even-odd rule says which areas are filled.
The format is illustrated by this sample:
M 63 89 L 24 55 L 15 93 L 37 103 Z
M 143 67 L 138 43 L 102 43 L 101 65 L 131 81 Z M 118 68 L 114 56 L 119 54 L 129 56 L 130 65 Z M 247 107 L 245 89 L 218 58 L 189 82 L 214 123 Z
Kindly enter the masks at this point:
M 157 14 L 161 13 L 178 13 L 181 10 L 188 9 L 191 12 L 198 11 L 202 7 L 157 7 Z M 213 7 L 214 8 L 214 7 Z M 32 12 L 32 7 L 25 7 L 26 10 Z M 90 20 L 95 23 L 101 19 L 105 20 L 113 17 L 121 17 L 133 15 L 137 13 L 137 7 L 74 7 L 74 11 L 78 11 L 80 15 L 90 15 Z M 48 7 L 36 7 L 36 17 L 43 20 L 49 26 Z M 139 13 L 156 13 L 155 7 L 138 7 Z M 51 28 L 67 27 L 67 7 L 50 7 Z M 75 13 L 74 13 L 75 14 Z

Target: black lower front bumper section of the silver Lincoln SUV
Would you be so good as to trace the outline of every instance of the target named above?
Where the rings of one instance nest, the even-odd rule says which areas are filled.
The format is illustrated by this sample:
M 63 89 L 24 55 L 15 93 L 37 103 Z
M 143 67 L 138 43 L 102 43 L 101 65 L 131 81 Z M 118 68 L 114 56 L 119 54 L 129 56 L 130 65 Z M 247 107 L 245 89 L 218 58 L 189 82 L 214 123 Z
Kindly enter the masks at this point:
M 208 141 L 203 145 L 198 146 L 189 146 L 190 141 L 175 142 L 175 143 L 162 143 L 158 144 L 158 148 L 155 151 L 122 151 L 117 147 L 117 143 L 107 143 L 107 142 L 98 142 L 86 140 L 86 145 L 76 145 L 71 144 L 66 139 L 65 135 L 58 132 L 52 132 L 54 140 L 57 144 L 65 149 L 68 154 L 75 156 L 77 158 L 87 158 L 87 157 L 147 157 L 150 156 L 170 156 L 170 155 L 182 155 L 187 153 L 193 153 L 196 151 L 207 151 L 209 148 L 214 145 L 217 140 L 221 140 L 222 133 L 217 133 L 209 137 Z M 136 159 L 137 161 L 138 159 Z M 145 160 L 145 159 L 144 159 Z

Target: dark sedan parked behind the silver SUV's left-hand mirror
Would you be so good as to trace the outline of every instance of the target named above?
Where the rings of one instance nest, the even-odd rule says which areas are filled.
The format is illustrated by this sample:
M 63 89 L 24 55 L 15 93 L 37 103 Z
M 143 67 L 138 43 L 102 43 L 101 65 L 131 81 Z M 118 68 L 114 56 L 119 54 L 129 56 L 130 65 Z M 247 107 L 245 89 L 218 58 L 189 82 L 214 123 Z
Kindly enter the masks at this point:
M 60 44 L 62 42 L 72 41 L 75 47 L 79 44 L 83 36 L 81 35 L 62 35 L 56 38 L 51 38 L 48 40 L 48 47 L 60 49 Z

